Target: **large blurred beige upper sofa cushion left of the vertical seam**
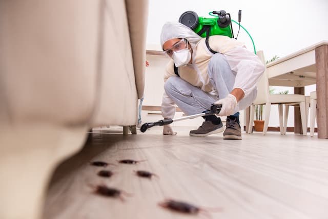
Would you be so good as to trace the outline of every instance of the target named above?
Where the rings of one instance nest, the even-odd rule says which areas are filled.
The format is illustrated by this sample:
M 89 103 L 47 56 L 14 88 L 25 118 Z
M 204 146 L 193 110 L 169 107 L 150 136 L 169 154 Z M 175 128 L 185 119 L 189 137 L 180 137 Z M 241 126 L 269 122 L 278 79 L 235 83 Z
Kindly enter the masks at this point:
M 13 121 L 77 124 L 96 95 L 99 1 L 1 1 L 0 87 Z

